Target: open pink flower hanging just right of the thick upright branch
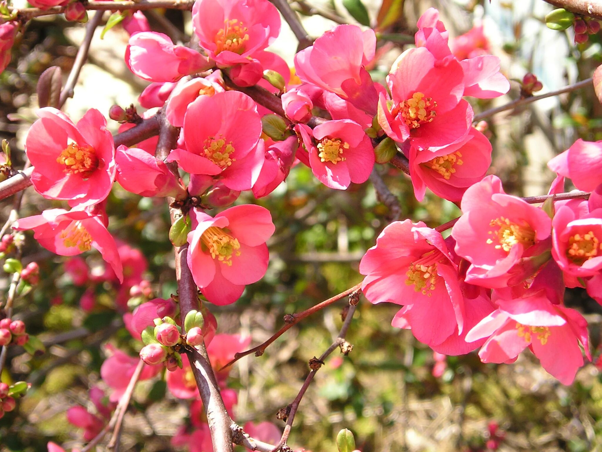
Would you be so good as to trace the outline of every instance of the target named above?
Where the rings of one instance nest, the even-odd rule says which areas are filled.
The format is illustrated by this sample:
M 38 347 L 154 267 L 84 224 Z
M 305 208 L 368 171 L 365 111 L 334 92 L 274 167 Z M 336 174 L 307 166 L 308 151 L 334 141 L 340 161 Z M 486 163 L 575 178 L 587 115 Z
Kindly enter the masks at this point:
M 188 266 L 194 282 L 214 304 L 234 303 L 244 286 L 259 281 L 268 265 L 265 241 L 274 233 L 264 207 L 230 207 L 214 218 L 193 210 L 188 233 Z

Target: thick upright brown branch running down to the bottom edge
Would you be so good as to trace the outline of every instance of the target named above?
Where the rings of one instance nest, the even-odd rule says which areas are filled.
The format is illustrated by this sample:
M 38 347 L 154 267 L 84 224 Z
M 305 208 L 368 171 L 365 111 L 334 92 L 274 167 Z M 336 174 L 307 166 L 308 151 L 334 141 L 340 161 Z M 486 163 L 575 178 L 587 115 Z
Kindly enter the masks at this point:
M 179 130 L 169 124 L 169 121 L 167 121 L 165 116 L 161 116 L 160 120 L 159 142 L 155 155 L 158 159 L 164 160 L 167 155 L 169 155 L 169 152 L 176 148 Z M 168 165 L 171 171 L 177 175 L 177 163 L 172 162 Z M 173 201 L 173 198 L 167 198 L 168 204 L 172 204 Z M 172 223 L 178 218 L 179 214 L 179 210 L 170 208 Z M 198 289 L 196 284 L 194 284 L 190 268 L 188 268 L 186 260 L 187 251 L 188 244 L 174 247 L 176 280 L 178 280 L 178 297 L 182 323 L 188 312 L 193 309 L 199 309 Z M 222 395 L 220 394 L 216 375 L 213 372 L 213 368 L 211 368 L 211 363 L 209 363 L 205 344 L 199 345 L 197 348 L 198 350 L 187 350 L 187 354 L 194 380 L 199 388 L 200 398 L 203 401 L 203 409 L 205 410 L 207 423 L 209 424 L 209 430 L 211 431 L 213 450 L 232 452 L 232 432 L 230 431 L 232 421 L 226 411 Z

